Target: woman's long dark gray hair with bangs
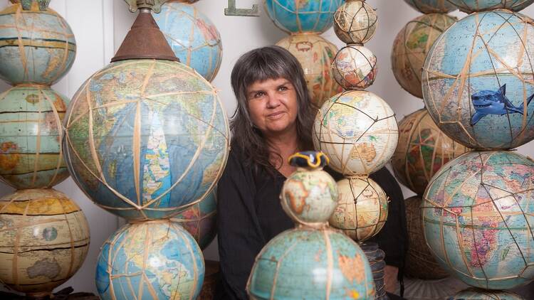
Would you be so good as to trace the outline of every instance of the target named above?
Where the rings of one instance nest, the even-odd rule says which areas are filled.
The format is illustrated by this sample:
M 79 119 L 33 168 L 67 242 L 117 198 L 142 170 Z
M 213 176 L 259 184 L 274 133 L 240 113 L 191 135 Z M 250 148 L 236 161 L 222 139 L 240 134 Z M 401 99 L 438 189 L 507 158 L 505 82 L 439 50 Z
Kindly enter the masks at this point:
M 237 60 L 231 73 L 231 85 L 237 98 L 237 108 L 230 121 L 232 144 L 244 151 L 250 161 L 264 166 L 269 173 L 274 173 L 271 160 L 281 155 L 272 151 L 263 134 L 253 126 L 248 113 L 246 91 L 256 81 L 284 78 L 295 87 L 298 102 L 297 139 L 298 150 L 312 150 L 311 130 L 315 113 L 310 94 L 306 86 L 304 72 L 298 60 L 288 50 L 276 45 L 251 50 Z M 280 165 L 281 166 L 281 165 Z

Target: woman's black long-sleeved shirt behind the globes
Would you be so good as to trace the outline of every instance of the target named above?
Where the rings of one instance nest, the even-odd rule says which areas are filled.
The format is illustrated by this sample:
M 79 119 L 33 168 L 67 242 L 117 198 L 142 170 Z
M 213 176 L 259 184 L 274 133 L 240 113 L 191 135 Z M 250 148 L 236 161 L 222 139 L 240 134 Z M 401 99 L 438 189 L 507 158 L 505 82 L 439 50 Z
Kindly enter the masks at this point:
M 235 143 L 234 143 L 235 145 Z M 280 192 L 286 177 L 246 164 L 241 149 L 232 146 L 217 189 L 217 222 L 222 284 L 216 299 L 248 299 L 246 282 L 256 255 L 269 240 L 295 224 L 283 211 Z M 330 170 L 335 180 L 342 176 Z M 402 268 L 407 250 L 402 191 L 382 168 L 370 178 L 389 196 L 389 213 L 382 230 L 371 240 L 386 253 L 386 262 Z

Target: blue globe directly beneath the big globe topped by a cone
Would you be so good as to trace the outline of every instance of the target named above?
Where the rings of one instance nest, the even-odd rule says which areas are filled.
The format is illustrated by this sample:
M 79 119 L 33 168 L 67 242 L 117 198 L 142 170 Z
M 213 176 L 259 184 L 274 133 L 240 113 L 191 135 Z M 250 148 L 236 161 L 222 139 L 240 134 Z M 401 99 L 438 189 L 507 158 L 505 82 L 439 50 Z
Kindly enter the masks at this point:
M 194 238 L 177 223 L 131 223 L 104 242 L 95 278 L 103 300 L 197 299 L 204 281 L 204 257 Z

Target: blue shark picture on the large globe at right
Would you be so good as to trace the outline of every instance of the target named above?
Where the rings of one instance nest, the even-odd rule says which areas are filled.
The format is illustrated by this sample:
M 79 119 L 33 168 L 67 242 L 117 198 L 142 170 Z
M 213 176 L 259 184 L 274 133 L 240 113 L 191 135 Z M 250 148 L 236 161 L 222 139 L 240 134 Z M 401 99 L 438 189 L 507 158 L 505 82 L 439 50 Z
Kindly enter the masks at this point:
M 527 106 L 534 97 L 530 95 L 527 98 Z M 524 102 L 519 107 L 508 100 L 506 97 L 506 84 L 500 87 L 498 90 L 481 90 L 471 95 L 471 102 L 476 112 L 471 116 L 471 126 L 474 126 L 480 119 L 486 117 L 487 114 L 523 114 Z

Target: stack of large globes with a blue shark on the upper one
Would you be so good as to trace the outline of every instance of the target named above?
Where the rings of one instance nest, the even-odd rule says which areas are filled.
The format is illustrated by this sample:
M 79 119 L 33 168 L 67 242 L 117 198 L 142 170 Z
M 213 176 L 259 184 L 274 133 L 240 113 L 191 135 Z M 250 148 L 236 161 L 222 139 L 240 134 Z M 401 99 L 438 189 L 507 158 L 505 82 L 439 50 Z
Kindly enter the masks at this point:
M 423 68 L 430 117 L 475 149 L 431 178 L 422 204 L 425 239 L 441 267 L 480 289 L 534 279 L 534 162 L 510 151 L 534 139 L 534 25 L 506 10 L 527 2 L 461 1 L 473 14 L 436 39 Z M 488 10 L 495 7 L 504 9 Z

